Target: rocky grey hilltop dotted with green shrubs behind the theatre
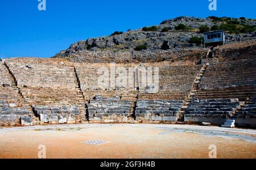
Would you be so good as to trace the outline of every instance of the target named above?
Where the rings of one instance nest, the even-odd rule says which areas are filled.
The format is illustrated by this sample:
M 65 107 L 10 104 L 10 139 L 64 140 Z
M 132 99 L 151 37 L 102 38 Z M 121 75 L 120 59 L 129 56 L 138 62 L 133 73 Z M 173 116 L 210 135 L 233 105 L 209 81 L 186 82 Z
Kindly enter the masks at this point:
M 110 36 L 82 40 L 53 57 L 64 57 L 79 63 L 129 63 L 131 60 L 136 63 L 198 58 L 207 50 L 202 47 L 203 32 L 211 30 L 225 30 L 228 44 L 250 40 L 253 43 L 249 45 L 255 50 L 255 23 L 255 19 L 243 17 L 180 16 L 164 20 L 157 26 L 127 32 L 115 31 Z

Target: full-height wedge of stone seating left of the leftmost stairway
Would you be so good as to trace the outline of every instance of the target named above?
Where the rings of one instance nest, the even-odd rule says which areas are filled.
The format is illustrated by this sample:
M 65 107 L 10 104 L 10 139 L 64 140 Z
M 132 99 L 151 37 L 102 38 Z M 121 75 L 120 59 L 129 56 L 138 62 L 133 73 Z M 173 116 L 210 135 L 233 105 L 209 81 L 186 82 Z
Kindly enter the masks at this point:
M 15 78 L 5 63 L 1 63 L 2 78 L 5 82 L 0 85 L 0 126 L 33 125 L 36 118 L 32 107 L 22 98 Z

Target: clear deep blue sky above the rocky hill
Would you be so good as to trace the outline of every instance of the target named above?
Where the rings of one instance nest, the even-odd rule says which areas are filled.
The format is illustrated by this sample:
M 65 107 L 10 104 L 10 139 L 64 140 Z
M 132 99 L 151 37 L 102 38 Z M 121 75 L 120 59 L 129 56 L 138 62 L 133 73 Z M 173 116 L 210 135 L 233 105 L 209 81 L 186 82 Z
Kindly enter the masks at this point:
M 0 0 L 0 56 L 51 57 L 70 44 L 159 24 L 177 16 L 230 16 L 256 18 L 255 0 Z

